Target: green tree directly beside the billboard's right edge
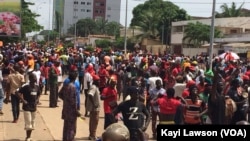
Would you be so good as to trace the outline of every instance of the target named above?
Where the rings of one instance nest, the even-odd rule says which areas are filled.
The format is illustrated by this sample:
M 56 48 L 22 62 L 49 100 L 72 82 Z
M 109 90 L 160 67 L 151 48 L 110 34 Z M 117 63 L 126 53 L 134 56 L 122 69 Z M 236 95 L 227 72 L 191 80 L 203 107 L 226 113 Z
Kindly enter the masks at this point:
M 21 0 L 22 4 L 22 12 L 21 12 L 21 37 L 25 39 L 26 33 L 32 31 L 40 31 L 43 29 L 43 26 L 38 24 L 38 21 L 35 19 L 36 17 L 40 16 L 36 13 L 33 13 L 30 9 L 30 5 L 34 5 L 34 3 L 26 2 L 25 0 Z

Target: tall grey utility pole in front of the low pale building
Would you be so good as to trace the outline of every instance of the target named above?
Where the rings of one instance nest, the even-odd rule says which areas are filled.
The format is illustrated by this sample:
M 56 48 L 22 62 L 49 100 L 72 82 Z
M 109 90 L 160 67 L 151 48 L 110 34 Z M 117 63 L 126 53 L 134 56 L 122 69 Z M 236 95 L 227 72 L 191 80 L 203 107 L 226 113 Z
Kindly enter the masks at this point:
M 213 69 L 212 64 L 213 64 L 213 48 L 214 48 L 215 5 L 216 5 L 216 0 L 213 0 L 213 10 L 212 10 L 211 29 L 210 29 L 210 48 L 209 48 L 209 69 L 211 70 Z

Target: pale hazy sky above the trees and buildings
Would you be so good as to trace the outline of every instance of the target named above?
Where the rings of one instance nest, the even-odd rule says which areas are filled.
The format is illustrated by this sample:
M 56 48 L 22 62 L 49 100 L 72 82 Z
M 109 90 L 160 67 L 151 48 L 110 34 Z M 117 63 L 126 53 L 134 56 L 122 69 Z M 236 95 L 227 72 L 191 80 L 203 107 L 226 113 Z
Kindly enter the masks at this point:
M 26 0 L 34 2 L 35 5 L 31 6 L 30 9 L 33 12 L 40 14 L 37 18 L 39 24 L 44 26 L 44 29 L 52 29 L 52 3 L 53 0 Z M 128 0 L 127 8 L 127 25 L 129 26 L 131 19 L 133 18 L 132 10 L 138 4 L 143 4 L 146 0 Z M 175 5 L 187 11 L 191 16 L 210 17 L 212 15 L 212 5 L 214 0 L 169 0 Z M 250 0 L 216 0 L 216 11 L 220 12 L 220 6 L 224 3 L 231 6 L 232 2 L 235 2 L 239 7 L 245 2 L 243 8 L 250 9 Z M 49 12 L 50 11 L 50 12 Z M 49 14 L 50 13 L 50 14 Z M 49 16 L 51 15 L 51 16 Z M 126 15 L 126 0 L 122 0 L 121 4 L 121 19 L 122 25 L 125 25 Z

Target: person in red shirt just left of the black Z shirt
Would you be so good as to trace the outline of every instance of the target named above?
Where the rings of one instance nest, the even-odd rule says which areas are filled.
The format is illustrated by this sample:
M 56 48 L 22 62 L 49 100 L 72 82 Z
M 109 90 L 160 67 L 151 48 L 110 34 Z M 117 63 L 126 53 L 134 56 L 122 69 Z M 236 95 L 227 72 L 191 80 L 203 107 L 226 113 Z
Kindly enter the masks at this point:
M 110 79 L 110 82 L 101 93 L 101 100 L 103 100 L 104 107 L 104 129 L 114 123 L 115 117 L 112 114 L 114 108 L 117 107 L 117 91 L 115 89 L 116 80 Z

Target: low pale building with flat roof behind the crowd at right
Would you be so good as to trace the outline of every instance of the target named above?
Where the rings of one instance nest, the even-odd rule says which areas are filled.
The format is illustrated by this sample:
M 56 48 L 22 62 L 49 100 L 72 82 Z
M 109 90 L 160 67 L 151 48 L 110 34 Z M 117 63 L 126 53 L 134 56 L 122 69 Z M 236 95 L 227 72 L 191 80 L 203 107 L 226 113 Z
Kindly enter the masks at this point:
M 211 19 L 172 22 L 171 48 L 173 53 L 183 53 L 184 48 L 189 48 L 183 41 L 185 28 L 188 23 L 200 22 L 211 25 Z M 215 38 L 215 43 L 250 42 L 250 17 L 232 17 L 215 19 L 215 28 L 224 35 L 223 38 Z

